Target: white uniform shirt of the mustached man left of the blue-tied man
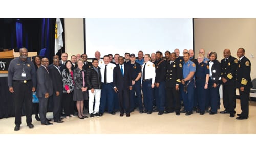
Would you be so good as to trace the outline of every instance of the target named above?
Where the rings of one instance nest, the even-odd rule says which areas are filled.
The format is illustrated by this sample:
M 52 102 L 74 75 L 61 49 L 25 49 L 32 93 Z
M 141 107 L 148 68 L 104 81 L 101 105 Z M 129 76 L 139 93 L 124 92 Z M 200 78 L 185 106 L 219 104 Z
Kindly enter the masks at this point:
M 106 66 L 106 82 L 111 83 L 113 82 L 113 72 L 114 67 L 116 67 L 116 64 L 109 63 Z M 101 73 L 101 82 L 104 82 L 104 72 L 105 72 L 105 63 L 101 64 L 100 66 L 100 73 Z

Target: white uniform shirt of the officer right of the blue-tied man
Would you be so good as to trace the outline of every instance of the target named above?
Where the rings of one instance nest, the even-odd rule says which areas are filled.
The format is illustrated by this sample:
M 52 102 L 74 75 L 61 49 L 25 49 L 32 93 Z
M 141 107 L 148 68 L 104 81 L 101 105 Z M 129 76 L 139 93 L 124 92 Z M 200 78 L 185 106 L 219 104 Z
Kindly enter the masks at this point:
M 145 79 L 152 79 L 152 84 L 155 83 L 155 77 L 156 77 L 156 68 L 155 68 L 155 64 L 152 63 L 151 61 L 148 61 L 146 63 L 144 63 L 141 67 L 141 71 L 142 71 L 142 75 L 143 76 L 143 68 L 145 67 Z M 141 81 L 143 81 L 141 79 Z

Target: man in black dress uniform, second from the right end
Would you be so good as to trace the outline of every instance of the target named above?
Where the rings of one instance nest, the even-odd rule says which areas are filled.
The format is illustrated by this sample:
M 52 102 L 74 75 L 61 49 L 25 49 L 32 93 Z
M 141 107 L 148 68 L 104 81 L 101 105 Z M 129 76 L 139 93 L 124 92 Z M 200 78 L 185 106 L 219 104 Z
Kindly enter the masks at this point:
M 234 77 L 238 66 L 238 60 L 231 56 L 229 49 L 223 51 L 224 59 L 221 60 L 221 80 L 223 92 L 223 105 L 225 110 L 220 113 L 230 113 L 234 117 L 236 111 L 236 79 Z

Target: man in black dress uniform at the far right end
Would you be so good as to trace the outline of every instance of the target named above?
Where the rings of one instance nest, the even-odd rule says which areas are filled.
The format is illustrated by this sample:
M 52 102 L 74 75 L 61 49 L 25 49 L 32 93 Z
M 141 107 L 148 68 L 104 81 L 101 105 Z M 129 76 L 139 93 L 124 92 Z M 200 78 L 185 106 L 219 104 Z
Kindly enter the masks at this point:
M 239 117 L 236 119 L 247 119 L 249 115 L 249 94 L 250 88 L 252 88 L 251 82 L 251 62 L 245 56 L 244 48 L 239 48 L 237 56 L 239 57 L 238 69 L 237 69 L 237 88 L 239 89 L 240 94 L 240 103 L 241 103 L 241 114 L 237 114 Z

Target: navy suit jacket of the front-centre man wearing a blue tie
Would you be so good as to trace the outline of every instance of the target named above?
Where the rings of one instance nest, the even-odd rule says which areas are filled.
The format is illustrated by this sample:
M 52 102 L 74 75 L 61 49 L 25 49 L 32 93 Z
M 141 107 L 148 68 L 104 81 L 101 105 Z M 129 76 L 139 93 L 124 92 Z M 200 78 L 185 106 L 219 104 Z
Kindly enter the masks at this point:
M 122 75 L 119 64 L 114 68 L 113 85 L 118 90 L 129 90 L 129 86 L 132 86 L 131 67 L 125 63 L 123 65 L 124 75 Z

